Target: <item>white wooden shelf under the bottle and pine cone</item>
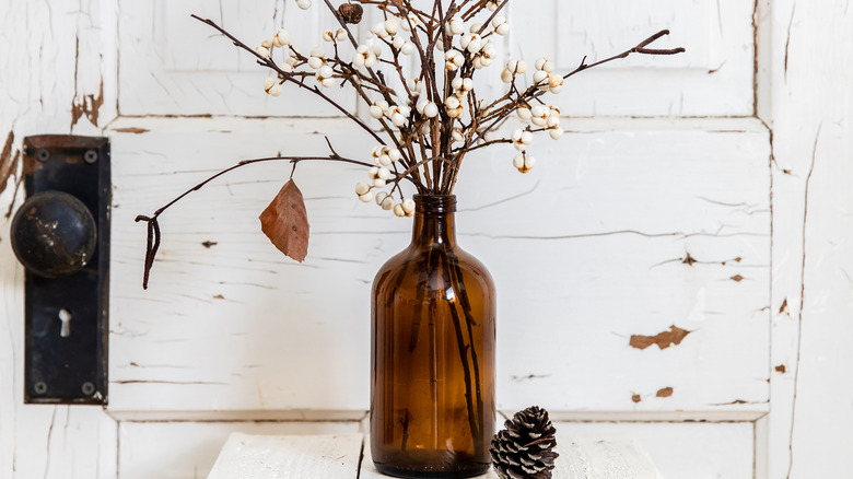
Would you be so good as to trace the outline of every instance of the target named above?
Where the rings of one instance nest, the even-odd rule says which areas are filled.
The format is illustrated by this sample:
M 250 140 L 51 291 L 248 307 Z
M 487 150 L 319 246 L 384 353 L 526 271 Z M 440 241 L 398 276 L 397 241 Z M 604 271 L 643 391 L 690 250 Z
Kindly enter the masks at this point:
M 630 436 L 558 435 L 554 479 L 661 479 Z M 360 470 L 361 469 L 361 470 Z M 381 479 L 363 434 L 252 435 L 233 433 L 208 479 Z M 481 479 L 496 479 L 490 470 Z

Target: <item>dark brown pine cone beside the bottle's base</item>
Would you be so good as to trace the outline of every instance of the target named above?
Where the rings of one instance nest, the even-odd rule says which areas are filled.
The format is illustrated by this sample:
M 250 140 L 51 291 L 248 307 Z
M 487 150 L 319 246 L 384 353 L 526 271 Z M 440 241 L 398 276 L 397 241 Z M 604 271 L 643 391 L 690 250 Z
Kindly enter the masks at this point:
M 492 465 L 501 479 L 550 479 L 557 439 L 548 411 L 538 406 L 516 412 L 492 437 Z

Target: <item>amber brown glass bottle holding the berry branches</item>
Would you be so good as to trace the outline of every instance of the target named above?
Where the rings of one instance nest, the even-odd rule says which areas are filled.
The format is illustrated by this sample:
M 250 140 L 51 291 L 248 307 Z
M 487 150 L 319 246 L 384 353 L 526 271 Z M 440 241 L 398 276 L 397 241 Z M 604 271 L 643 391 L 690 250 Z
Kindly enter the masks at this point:
M 373 282 L 371 453 L 389 476 L 478 476 L 494 434 L 494 284 L 456 245 L 456 197 L 414 201 L 411 245 Z

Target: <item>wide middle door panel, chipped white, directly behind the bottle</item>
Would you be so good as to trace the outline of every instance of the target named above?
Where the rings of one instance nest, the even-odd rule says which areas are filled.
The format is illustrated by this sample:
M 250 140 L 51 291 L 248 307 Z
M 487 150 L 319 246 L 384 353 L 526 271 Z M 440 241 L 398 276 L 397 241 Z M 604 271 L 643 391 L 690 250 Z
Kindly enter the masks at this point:
M 148 131 L 113 137 L 126 161 L 115 166 L 110 407 L 367 409 L 370 285 L 407 244 L 410 220 L 358 201 L 359 167 L 301 164 L 312 243 L 296 264 L 257 221 L 290 166 L 250 166 L 163 214 L 142 291 L 137 214 L 242 159 L 325 148 L 311 122 L 212 132 L 194 121 L 136 122 Z M 323 124 L 341 154 L 370 151 L 343 120 Z M 459 182 L 460 244 L 499 285 L 499 407 L 767 410 L 762 127 L 573 125 L 541 147 L 531 173 L 498 149 L 467 160 Z M 680 344 L 631 346 L 671 326 L 687 335 Z

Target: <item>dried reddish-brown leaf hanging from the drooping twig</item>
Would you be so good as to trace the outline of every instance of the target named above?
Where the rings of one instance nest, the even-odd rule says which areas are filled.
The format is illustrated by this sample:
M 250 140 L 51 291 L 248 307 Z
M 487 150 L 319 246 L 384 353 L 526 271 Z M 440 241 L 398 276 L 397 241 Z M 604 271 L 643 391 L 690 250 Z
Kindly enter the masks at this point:
M 308 254 L 308 213 L 302 191 L 288 180 L 271 203 L 260 213 L 260 230 L 279 250 L 296 261 Z

